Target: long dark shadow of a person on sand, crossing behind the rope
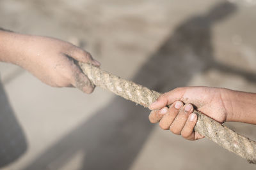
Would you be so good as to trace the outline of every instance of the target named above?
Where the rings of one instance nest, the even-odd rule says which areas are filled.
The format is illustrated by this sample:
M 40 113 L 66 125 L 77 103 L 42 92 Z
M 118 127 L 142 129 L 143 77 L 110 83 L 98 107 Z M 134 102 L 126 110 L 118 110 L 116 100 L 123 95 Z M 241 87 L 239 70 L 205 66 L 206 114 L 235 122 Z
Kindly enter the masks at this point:
M 253 79 L 255 74 L 214 61 L 211 27 L 235 11 L 234 4 L 220 3 L 202 16 L 185 20 L 132 80 L 158 92 L 166 92 L 186 86 L 194 74 L 216 67 L 256 81 Z M 24 169 L 47 169 L 54 162 L 59 162 L 54 164 L 55 168 L 61 167 L 77 151 L 85 153 L 81 169 L 129 169 L 154 127 L 148 122 L 148 113 L 141 106 L 115 97 Z

